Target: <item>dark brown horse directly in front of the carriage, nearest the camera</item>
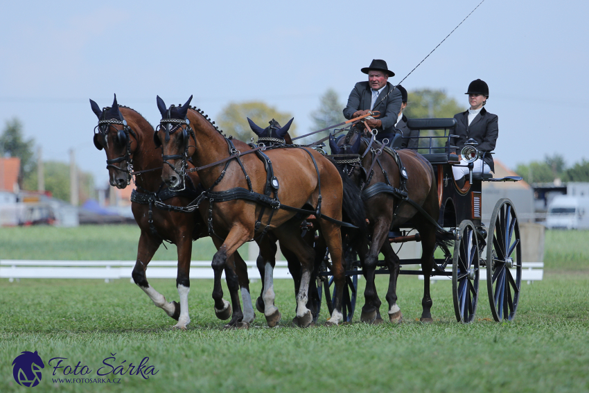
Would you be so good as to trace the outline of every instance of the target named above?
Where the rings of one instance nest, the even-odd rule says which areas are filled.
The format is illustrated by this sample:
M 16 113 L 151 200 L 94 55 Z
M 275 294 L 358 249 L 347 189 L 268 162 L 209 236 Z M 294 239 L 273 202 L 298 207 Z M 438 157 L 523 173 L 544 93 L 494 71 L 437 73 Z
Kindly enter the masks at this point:
M 378 141 L 371 143 L 368 139 L 362 138 L 354 127 L 337 143 L 331 137 L 330 146 L 332 153 L 345 152 L 362 157 L 359 164 L 347 163 L 340 166 L 340 169 L 353 178 L 362 189 L 364 209 L 369 220 L 369 233 L 372 235 L 369 252 L 362 266 L 366 288 L 360 320 L 377 324 L 382 322 L 379 311 L 381 302 L 374 284 L 378 254 L 382 252 L 390 272 L 386 296 L 389 303 L 389 321 L 402 322 L 403 314 L 396 295 L 400 260 L 388 238 L 392 228 L 398 228 L 411 220 L 411 225 L 421 236 L 421 270 L 425 278 L 420 320 L 433 322 L 430 274 L 434 267 L 434 250 L 437 245 L 447 247 L 453 236 L 439 231 L 437 226 L 423 215 L 427 214 L 435 222 L 439 218 L 440 207 L 432 164 L 413 150 L 392 150 L 385 148 Z M 407 202 L 407 198 L 421 207 L 423 212 L 419 212 L 412 203 Z

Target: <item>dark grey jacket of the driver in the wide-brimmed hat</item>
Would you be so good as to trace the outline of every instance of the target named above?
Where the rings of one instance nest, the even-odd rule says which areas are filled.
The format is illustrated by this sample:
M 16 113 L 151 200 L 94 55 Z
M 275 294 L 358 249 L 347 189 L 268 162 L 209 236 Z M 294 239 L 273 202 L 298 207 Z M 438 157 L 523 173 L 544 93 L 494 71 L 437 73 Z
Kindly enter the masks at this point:
M 387 96 L 388 94 L 388 96 Z M 386 98 L 385 98 L 386 97 Z M 391 139 L 395 134 L 395 123 L 399 112 L 401 112 L 401 91 L 394 89 L 394 85 L 387 82 L 387 85 L 380 91 L 372 110 L 378 110 L 380 116 L 375 119 L 383 123 L 382 130 L 378 130 L 380 137 Z M 344 117 L 351 119 L 354 112 L 358 110 L 369 110 L 372 101 L 372 89 L 368 82 L 358 82 L 352 89 L 348 98 L 348 105 L 344 109 Z M 380 135 L 380 133 L 383 133 Z

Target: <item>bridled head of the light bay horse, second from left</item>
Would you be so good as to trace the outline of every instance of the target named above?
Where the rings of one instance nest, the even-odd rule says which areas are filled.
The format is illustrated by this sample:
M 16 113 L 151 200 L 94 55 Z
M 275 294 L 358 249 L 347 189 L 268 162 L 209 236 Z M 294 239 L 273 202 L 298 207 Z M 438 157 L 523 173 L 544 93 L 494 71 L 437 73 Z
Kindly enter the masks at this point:
M 161 121 L 153 136 L 156 145 L 161 145 L 164 168 L 161 171 L 161 180 L 164 180 L 171 190 L 182 190 L 185 187 L 184 177 L 188 166 L 190 148 L 190 137 L 196 143 L 195 134 L 191 128 L 190 121 L 186 116 L 192 96 L 184 105 L 170 105 L 166 107 L 164 100 L 157 96 L 157 109 L 161 114 Z

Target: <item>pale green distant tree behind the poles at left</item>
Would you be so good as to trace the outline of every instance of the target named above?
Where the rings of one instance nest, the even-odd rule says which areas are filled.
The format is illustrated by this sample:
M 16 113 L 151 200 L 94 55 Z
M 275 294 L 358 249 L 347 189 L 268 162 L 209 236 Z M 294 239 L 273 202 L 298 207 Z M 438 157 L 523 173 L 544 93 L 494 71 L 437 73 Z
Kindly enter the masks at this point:
M 45 190 L 54 198 L 69 202 L 69 164 L 60 161 L 44 161 Z M 24 189 L 37 189 L 37 171 L 33 171 L 24 180 Z M 94 177 L 91 173 L 78 171 L 78 200 L 80 204 L 89 198 L 96 198 Z

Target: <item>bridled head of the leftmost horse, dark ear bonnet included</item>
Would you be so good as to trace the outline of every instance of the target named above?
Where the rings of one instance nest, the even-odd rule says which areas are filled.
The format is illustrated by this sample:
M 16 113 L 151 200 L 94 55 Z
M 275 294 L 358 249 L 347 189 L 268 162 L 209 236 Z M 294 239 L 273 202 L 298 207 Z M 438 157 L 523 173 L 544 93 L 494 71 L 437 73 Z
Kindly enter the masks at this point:
M 98 125 L 94 128 L 94 146 L 106 152 L 110 185 L 124 189 L 131 182 L 132 156 L 134 148 L 137 148 L 137 143 L 132 143 L 131 136 L 137 141 L 137 134 L 121 114 L 116 94 L 112 107 L 100 110 L 98 104 L 92 100 L 90 106 L 98 117 Z

